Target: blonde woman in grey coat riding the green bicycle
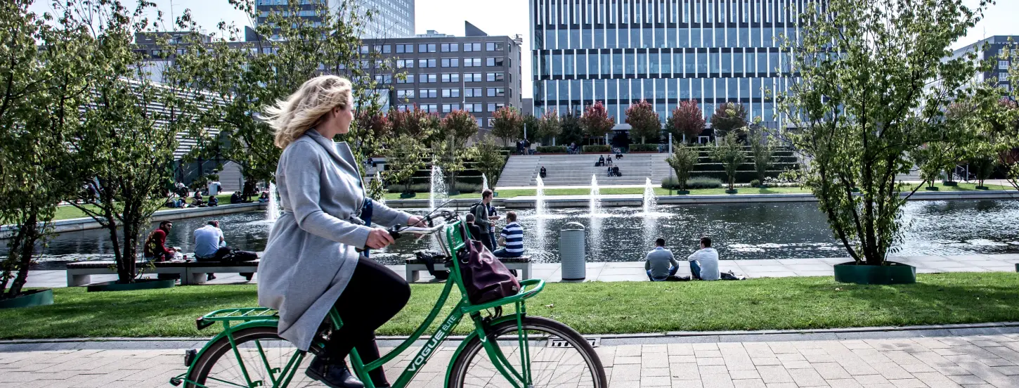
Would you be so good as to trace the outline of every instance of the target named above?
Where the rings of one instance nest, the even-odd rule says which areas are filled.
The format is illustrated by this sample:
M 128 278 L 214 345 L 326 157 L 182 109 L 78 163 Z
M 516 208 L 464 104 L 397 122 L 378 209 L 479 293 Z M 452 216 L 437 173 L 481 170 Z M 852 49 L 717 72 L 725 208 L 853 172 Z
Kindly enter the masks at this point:
M 283 149 L 276 167 L 283 214 L 259 265 L 259 304 L 279 311 L 279 336 L 302 350 L 335 306 L 343 326 L 306 371 L 332 388 L 363 387 L 344 357 L 356 347 L 365 363 L 378 359 L 375 329 L 411 296 L 406 280 L 355 251 L 393 242 L 386 229 L 362 217 L 386 227 L 421 221 L 366 198 L 350 146 L 332 141 L 350 131 L 352 105 L 350 80 L 321 75 L 267 109 L 276 147 Z M 371 378 L 376 387 L 389 387 L 382 368 Z

